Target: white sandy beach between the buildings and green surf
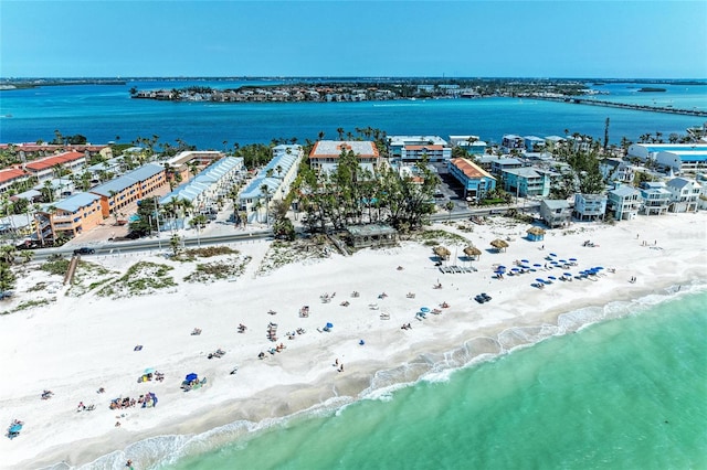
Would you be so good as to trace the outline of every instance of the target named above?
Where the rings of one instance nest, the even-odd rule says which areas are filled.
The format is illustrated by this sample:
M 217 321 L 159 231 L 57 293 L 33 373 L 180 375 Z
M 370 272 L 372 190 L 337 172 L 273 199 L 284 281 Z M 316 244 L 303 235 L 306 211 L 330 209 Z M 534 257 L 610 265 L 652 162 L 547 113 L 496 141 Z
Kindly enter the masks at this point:
M 563 312 L 705 280 L 704 212 L 644 216 L 615 225 L 576 223 L 568 229 L 548 231 L 544 242 L 527 241 L 529 225 L 510 226 L 502 217 L 471 225 L 473 232 L 461 232 L 457 225 L 435 228 L 456 232 L 484 252 L 472 263 L 476 273 L 442 274 L 434 266 L 431 247 L 402 242 L 395 248 L 366 249 L 348 257 L 331 254 L 255 276 L 270 245 L 243 243 L 233 247 L 252 260 L 236 281 L 180 282 L 163 292 L 119 300 L 93 293 L 66 297 L 60 290 L 49 307 L 0 316 L 4 374 L 0 425 L 7 427 L 15 418 L 24 421 L 18 438 L 0 439 L 0 467 L 41 468 L 61 461 L 81 466 L 148 437 L 286 416 L 335 396 L 356 397 L 371 386 L 377 371 L 409 363 L 422 353 L 439 354 L 442 361 L 443 353 L 453 352 L 447 361 L 461 366 L 484 350 L 496 353 L 495 340 L 510 328 L 555 325 Z M 498 237 L 511 239 L 508 249 L 488 252 L 489 242 Z M 598 246 L 582 246 L 587 239 Z M 463 256 L 462 243 L 442 244 L 452 256 Z M 527 259 L 545 266 L 550 253 L 558 259 L 577 258 L 578 265 L 569 269 L 574 274 L 595 266 L 604 269 L 594 280 L 558 280 L 542 290 L 531 287 L 535 278 L 560 277 L 567 269 L 542 267 L 503 280 L 493 278 L 494 265 L 511 268 L 515 260 Z M 124 273 L 145 256 L 85 259 Z M 175 266 L 176 281 L 193 270 L 189 263 L 157 256 L 152 260 Z M 633 284 L 629 282 L 632 277 L 636 278 Z M 441 289 L 433 288 L 437 279 Z M 36 274 L 20 279 L 18 296 L 31 297 L 22 293 L 22 286 L 40 280 Z M 360 297 L 351 297 L 352 291 Z M 383 292 L 387 296 L 379 298 Z M 409 298 L 408 292 L 415 297 Z M 493 300 L 477 303 L 473 297 L 479 292 Z M 323 293 L 334 299 L 325 303 Z M 349 306 L 341 306 L 342 301 Z M 435 309 L 442 302 L 450 307 L 415 319 L 421 307 Z M 303 306 L 309 306 L 307 318 L 299 316 Z M 268 314 L 271 309 L 276 314 Z M 381 312 L 390 319 L 382 320 Z M 267 339 L 270 322 L 277 323 L 276 342 Z M 318 331 L 327 322 L 334 324 L 331 331 Z M 238 332 L 240 323 L 247 327 L 244 333 Z M 412 328 L 402 330 L 404 323 Z M 191 335 L 194 328 L 201 334 Z M 306 332 L 286 337 L 297 329 Z M 479 341 L 466 352 L 464 344 L 474 338 L 494 341 Z M 513 335 L 503 338 L 505 348 L 515 344 Z M 279 343 L 286 349 L 267 352 Z M 143 349 L 134 351 L 138 344 Z M 226 354 L 209 360 L 208 354 L 219 348 Z M 257 359 L 260 352 L 265 352 L 265 359 Z M 333 365 L 337 360 L 345 365 L 342 372 Z M 231 375 L 235 365 L 238 373 Z M 147 367 L 163 373 L 165 380 L 138 383 Z M 426 370 L 415 371 L 409 367 L 404 380 L 415 380 Z M 208 383 L 184 393 L 180 384 L 192 372 Z M 97 393 L 101 387 L 105 393 Z M 53 397 L 41 399 L 43 389 L 51 389 Z M 109 409 L 113 398 L 137 398 L 147 392 L 159 398 L 155 408 Z M 80 402 L 96 408 L 77 413 Z M 147 462 L 136 463 L 143 468 Z

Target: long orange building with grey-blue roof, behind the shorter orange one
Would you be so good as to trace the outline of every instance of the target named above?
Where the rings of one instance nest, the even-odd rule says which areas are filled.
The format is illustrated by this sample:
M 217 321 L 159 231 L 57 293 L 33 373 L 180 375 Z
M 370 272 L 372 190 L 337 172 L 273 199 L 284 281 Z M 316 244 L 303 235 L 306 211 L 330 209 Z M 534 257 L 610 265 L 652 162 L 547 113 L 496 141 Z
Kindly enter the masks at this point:
M 165 184 L 165 167 L 147 163 L 123 177 L 92 188 L 91 192 L 101 197 L 101 211 L 105 218 L 120 213 L 128 204 L 137 203 Z

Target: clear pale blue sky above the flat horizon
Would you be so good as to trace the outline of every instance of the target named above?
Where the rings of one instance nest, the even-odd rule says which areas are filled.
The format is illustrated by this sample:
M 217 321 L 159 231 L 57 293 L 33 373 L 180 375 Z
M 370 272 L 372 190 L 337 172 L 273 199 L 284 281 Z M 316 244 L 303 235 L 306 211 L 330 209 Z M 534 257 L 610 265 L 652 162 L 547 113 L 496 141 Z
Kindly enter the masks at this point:
M 705 24 L 704 0 L 0 0 L 0 76 L 707 78 Z

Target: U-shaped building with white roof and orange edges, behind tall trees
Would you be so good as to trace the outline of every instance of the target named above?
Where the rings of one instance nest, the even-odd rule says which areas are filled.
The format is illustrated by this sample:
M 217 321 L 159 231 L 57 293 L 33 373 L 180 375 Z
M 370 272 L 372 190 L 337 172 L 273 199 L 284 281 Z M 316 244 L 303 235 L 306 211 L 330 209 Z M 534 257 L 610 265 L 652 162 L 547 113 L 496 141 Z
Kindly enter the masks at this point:
M 334 172 L 342 152 L 354 152 L 359 167 L 371 173 L 381 161 L 376 143 L 370 140 L 319 140 L 309 152 L 309 165 L 318 172 Z

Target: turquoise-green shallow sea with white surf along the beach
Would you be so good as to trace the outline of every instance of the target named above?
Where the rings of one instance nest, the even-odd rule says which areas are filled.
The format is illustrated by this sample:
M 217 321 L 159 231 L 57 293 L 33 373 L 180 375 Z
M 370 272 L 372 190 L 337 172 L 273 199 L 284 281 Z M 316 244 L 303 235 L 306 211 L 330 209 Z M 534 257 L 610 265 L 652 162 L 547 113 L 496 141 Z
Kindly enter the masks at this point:
M 703 468 L 707 290 L 687 290 L 567 313 L 567 334 L 365 399 L 150 439 L 87 467 L 150 455 L 139 468 Z

